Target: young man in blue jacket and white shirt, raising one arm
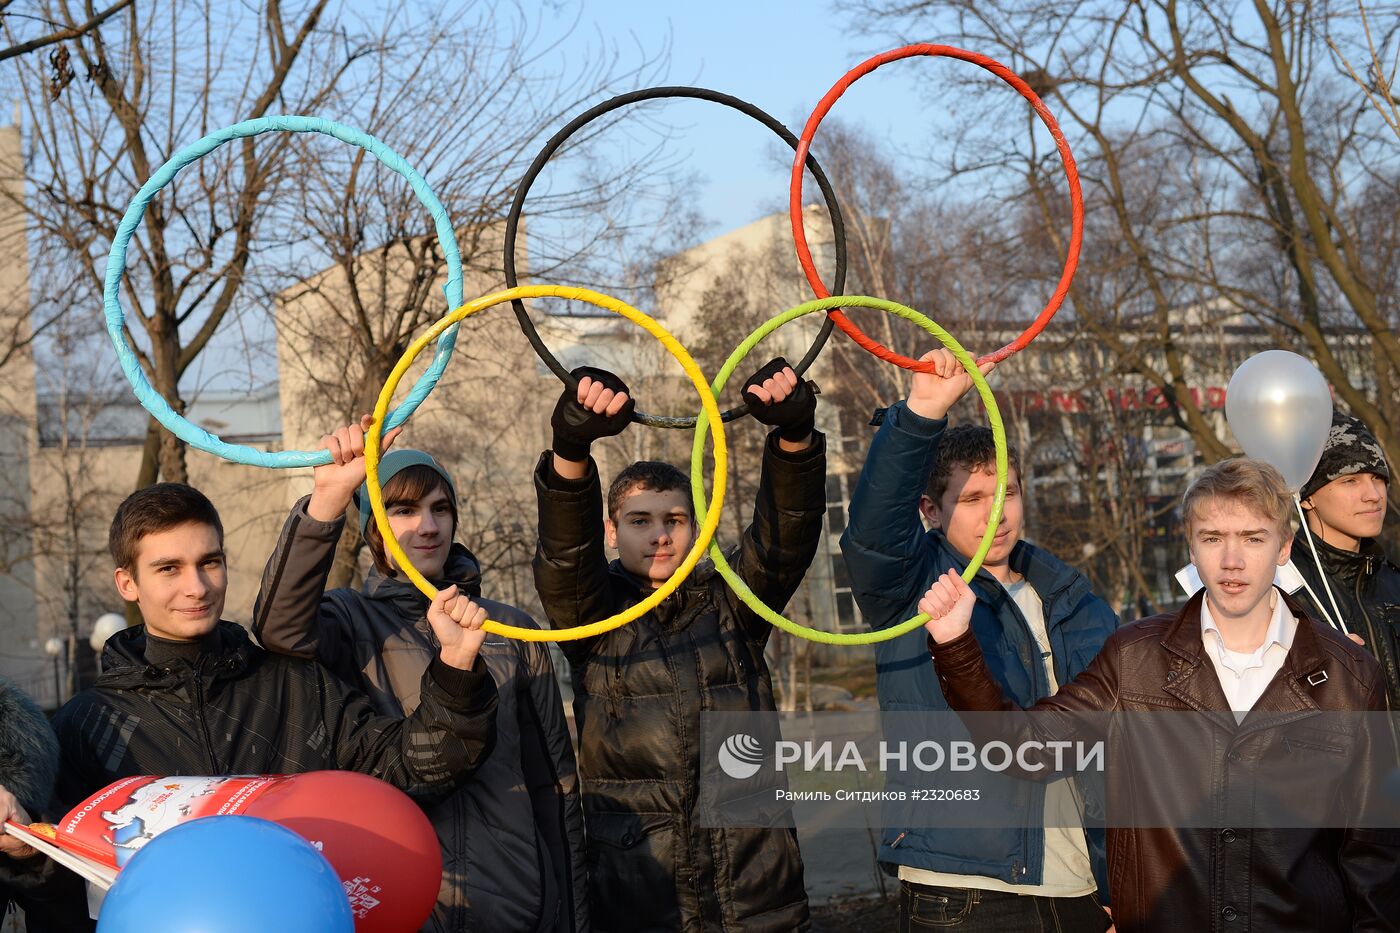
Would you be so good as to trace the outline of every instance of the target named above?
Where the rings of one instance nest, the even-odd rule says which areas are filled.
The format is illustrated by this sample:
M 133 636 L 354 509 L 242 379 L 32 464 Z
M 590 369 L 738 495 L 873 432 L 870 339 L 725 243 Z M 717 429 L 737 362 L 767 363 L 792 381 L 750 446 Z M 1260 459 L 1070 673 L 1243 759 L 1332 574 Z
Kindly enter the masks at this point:
M 909 398 L 885 413 L 841 535 L 857 604 L 874 629 L 916 615 L 938 576 L 967 566 L 997 486 L 991 431 L 948 429 L 948 410 L 972 380 L 948 350 L 923 359 L 935 373 L 916 373 Z M 1012 452 L 1000 531 L 972 583 L 972 628 L 1002 691 L 1033 705 L 1089 664 L 1117 616 L 1074 567 L 1021 541 L 1021 493 Z M 882 710 L 948 709 L 927 658 L 923 629 L 875 646 Z M 1016 782 L 1014 793 L 1007 806 L 1019 825 L 885 828 L 879 859 L 900 878 L 902 933 L 952 922 L 970 932 L 1109 927 L 1103 834 L 1078 822 L 1074 785 Z

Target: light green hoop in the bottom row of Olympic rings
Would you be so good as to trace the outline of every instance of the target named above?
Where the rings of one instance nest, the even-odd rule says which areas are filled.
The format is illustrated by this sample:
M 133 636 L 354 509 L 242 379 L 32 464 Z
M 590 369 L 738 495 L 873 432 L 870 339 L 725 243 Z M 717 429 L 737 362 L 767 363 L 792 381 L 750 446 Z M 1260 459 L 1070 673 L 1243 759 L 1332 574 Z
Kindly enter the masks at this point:
M 981 396 L 983 405 L 987 406 L 987 422 L 991 424 L 993 441 L 997 447 L 997 493 L 991 503 L 991 513 L 987 516 L 987 530 L 981 535 L 981 544 L 977 546 L 977 552 L 967 562 L 967 567 L 963 570 L 963 580 L 972 583 L 972 579 L 977 576 L 977 570 L 981 567 L 981 562 L 987 558 L 987 552 L 991 551 L 991 542 L 997 537 L 997 525 L 1001 523 L 1001 510 L 1007 499 L 1007 429 L 1001 423 L 1001 409 L 997 408 L 997 399 L 991 394 L 991 388 L 987 385 L 987 380 L 983 377 L 981 371 L 977 368 L 977 361 L 972 359 L 972 354 L 962 347 L 958 340 L 952 338 L 941 326 L 921 315 L 913 308 L 907 308 L 902 304 L 895 304 L 893 301 L 885 301 L 883 298 L 871 298 L 868 296 L 839 296 L 834 298 L 819 298 L 816 301 L 808 301 L 799 304 L 795 308 L 784 311 L 783 314 L 770 318 L 767 322 L 759 326 L 753 333 L 743 339 L 729 359 L 724 361 L 720 367 L 720 373 L 714 377 L 711 384 L 711 391 L 718 395 L 724 388 L 724 384 L 734 374 L 734 368 L 746 357 L 755 346 L 759 345 L 769 333 L 778 329 L 788 321 L 794 321 L 804 314 L 812 314 L 816 311 L 830 311 L 832 308 L 839 308 L 841 305 L 855 307 L 855 308 L 875 308 L 879 311 L 886 311 L 906 321 L 913 321 L 918 326 L 924 328 L 932 333 L 938 340 L 953 352 L 958 361 L 963 364 L 967 370 L 967 375 L 972 377 L 973 385 L 977 387 L 977 394 Z M 708 517 L 718 511 L 718 506 L 714 511 L 707 516 L 707 509 L 710 506 L 706 503 L 704 497 L 704 483 L 701 482 L 701 474 L 704 469 L 704 436 L 706 423 L 701 422 L 696 426 L 696 441 L 690 452 L 690 495 L 694 500 L 696 516 L 701 521 L 707 521 Z M 714 482 L 720 482 L 720 466 L 715 465 Z M 388 537 L 385 537 L 388 541 Z M 713 542 L 710 545 L 710 559 L 714 560 L 715 569 L 720 576 L 724 577 L 729 588 L 734 590 L 745 605 L 757 612 L 762 618 L 767 619 L 771 625 L 812 642 L 822 642 L 825 644 L 874 644 L 875 642 L 888 642 L 889 639 L 896 639 L 906 632 L 917 629 L 928 621 L 928 614 L 920 612 L 911 619 L 906 619 L 899 625 L 890 626 L 888 629 L 878 629 L 875 632 L 855 632 L 855 633 L 839 633 L 839 632 L 823 632 L 820 629 L 811 629 L 805 625 L 798 625 L 791 619 L 774 612 L 763 600 L 760 600 L 753 590 L 734 572 L 729 562 L 725 560 L 724 552 L 720 551 L 720 544 Z

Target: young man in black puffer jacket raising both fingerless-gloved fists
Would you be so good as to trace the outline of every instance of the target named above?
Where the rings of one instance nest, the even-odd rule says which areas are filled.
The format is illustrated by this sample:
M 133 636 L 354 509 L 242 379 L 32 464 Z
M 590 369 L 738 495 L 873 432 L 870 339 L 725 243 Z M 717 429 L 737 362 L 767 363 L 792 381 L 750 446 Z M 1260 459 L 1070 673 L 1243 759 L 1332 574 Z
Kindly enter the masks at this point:
M 603 516 L 589 445 L 620 433 L 631 401 L 616 375 L 580 370 L 554 409 L 535 472 L 535 584 L 556 628 L 598 622 L 665 583 L 694 541 L 689 479 L 669 464 L 622 471 Z M 816 399 L 783 360 L 745 385 L 776 430 L 763 454 L 738 574 L 781 611 L 816 553 L 826 510 Z M 609 565 L 603 544 L 617 549 Z M 701 712 L 774 710 L 763 649 L 771 626 L 710 563 L 636 622 L 563 642 L 573 667 L 594 929 L 790 933 L 811 925 L 792 829 L 696 825 Z

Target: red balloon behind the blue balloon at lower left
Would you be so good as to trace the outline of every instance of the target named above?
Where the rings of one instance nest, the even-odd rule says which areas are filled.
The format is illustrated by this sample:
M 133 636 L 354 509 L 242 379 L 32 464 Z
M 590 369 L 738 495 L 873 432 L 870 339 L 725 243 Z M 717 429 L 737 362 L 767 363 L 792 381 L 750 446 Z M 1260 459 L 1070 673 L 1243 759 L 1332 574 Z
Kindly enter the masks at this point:
M 442 884 L 433 824 L 407 794 L 349 770 L 283 779 L 244 811 L 279 822 L 321 850 L 350 897 L 356 933 L 417 930 Z

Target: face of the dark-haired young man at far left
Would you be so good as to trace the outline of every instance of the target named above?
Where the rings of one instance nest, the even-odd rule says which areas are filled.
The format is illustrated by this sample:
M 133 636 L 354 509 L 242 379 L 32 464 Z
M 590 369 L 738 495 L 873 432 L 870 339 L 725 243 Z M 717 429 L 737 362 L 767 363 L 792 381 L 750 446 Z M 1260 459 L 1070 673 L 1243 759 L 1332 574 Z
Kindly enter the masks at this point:
M 195 642 L 224 612 L 228 569 L 213 525 L 190 521 L 146 535 L 133 565 L 115 577 L 116 591 L 140 607 L 146 630 L 161 639 Z

